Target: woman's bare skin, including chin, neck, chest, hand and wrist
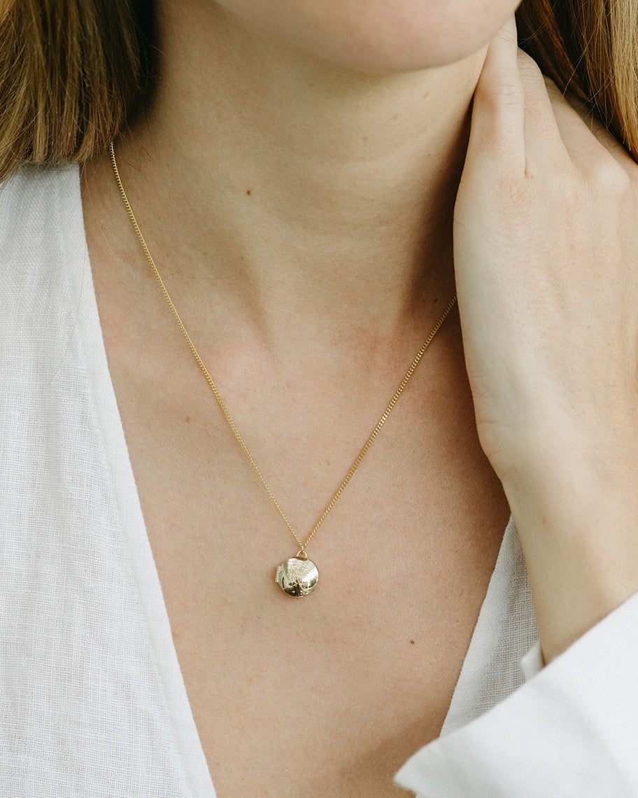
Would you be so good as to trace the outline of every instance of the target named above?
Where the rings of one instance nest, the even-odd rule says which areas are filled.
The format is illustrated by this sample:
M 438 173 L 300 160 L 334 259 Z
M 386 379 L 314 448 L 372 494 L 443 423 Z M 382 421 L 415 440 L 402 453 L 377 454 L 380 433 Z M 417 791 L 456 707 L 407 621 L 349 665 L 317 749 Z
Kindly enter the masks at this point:
M 638 590 L 636 165 L 517 55 L 510 2 L 423 5 L 160 2 L 163 77 L 117 142 L 175 303 L 298 530 L 458 291 L 313 540 L 312 604 L 263 577 L 288 533 L 144 270 L 108 160 L 82 176 L 220 796 L 281 794 L 300 762 L 327 795 L 398 794 L 392 773 L 440 731 L 508 504 L 548 661 Z M 363 590 L 341 583 L 350 558 Z M 406 563 L 419 590 L 396 589 Z M 291 693 L 313 718 L 301 736 L 273 723 Z

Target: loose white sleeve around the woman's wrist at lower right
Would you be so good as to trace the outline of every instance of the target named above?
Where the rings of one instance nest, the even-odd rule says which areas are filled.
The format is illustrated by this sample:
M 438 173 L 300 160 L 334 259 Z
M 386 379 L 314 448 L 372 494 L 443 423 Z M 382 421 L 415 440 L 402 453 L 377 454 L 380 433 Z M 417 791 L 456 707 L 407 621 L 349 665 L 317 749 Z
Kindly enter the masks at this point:
M 638 798 L 638 595 L 396 781 L 423 798 Z

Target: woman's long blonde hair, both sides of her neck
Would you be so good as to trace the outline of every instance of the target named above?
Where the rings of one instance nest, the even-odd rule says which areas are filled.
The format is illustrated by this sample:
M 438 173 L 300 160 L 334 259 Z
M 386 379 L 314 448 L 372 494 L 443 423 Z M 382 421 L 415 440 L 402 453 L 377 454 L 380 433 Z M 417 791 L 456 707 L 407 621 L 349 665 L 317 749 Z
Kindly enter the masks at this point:
M 152 0 L 0 0 L 0 180 L 83 162 L 144 110 Z M 638 0 L 524 0 L 519 42 L 638 153 Z

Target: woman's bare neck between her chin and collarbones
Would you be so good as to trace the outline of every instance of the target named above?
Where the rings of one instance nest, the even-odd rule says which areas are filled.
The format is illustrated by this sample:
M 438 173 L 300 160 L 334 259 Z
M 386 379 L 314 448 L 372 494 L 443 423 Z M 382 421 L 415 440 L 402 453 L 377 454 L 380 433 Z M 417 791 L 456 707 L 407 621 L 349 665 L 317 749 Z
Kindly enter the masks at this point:
M 392 335 L 451 293 L 482 52 L 356 74 L 199 0 L 160 3 L 160 45 L 152 109 L 119 145 L 160 260 L 216 278 L 269 338 L 296 318 Z

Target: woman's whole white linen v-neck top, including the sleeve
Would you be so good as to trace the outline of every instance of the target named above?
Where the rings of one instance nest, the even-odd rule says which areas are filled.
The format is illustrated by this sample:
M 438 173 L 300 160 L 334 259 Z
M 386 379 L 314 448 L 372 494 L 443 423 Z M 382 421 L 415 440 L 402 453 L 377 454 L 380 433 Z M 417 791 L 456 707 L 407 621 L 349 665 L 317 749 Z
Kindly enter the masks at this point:
M 213 798 L 108 373 L 77 167 L 0 187 L 0 303 L 0 795 Z M 510 523 L 442 736 L 400 784 L 638 798 L 638 597 L 543 669 L 536 641 Z

